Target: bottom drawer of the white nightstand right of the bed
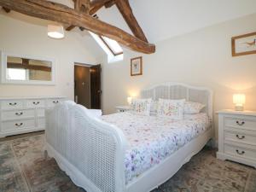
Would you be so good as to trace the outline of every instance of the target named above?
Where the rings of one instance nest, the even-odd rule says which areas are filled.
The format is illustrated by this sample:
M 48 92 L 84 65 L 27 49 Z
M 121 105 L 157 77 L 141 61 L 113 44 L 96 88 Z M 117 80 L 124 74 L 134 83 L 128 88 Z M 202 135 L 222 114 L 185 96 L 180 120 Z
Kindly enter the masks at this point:
M 232 146 L 229 144 L 225 144 L 224 145 L 224 153 L 231 154 L 231 155 L 234 155 L 234 156 L 240 157 L 240 158 L 256 160 L 256 151 L 252 150 L 252 149 L 241 148 L 241 147 L 236 147 L 236 146 Z

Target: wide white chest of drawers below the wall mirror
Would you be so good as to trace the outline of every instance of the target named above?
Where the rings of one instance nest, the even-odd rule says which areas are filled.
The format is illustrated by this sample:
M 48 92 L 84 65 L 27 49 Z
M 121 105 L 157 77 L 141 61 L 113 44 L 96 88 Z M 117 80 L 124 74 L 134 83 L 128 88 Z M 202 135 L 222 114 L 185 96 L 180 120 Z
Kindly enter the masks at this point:
M 44 130 L 45 110 L 64 101 L 63 96 L 0 98 L 0 137 Z

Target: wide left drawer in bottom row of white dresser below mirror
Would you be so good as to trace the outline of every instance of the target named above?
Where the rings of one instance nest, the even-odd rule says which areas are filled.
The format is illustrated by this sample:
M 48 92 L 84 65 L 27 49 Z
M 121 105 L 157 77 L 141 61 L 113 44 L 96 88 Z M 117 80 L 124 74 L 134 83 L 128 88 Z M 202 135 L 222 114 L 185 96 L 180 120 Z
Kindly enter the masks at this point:
M 32 129 L 35 127 L 35 119 L 20 119 L 12 121 L 3 121 L 1 130 L 2 131 L 15 131 Z

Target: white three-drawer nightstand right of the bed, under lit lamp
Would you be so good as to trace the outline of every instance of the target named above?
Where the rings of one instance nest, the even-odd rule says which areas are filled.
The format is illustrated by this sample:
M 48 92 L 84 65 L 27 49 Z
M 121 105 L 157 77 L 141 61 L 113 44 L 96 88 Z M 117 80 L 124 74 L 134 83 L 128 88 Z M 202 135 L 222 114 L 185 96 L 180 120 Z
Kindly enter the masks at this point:
M 218 111 L 217 158 L 256 168 L 256 112 Z

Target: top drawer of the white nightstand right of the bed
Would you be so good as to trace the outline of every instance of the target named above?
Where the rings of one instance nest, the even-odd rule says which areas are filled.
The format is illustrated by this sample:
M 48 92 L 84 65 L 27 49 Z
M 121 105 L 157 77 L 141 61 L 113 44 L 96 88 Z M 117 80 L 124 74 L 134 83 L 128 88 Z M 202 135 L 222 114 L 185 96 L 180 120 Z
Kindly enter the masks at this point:
M 256 121 L 252 119 L 224 118 L 224 126 L 256 131 Z

